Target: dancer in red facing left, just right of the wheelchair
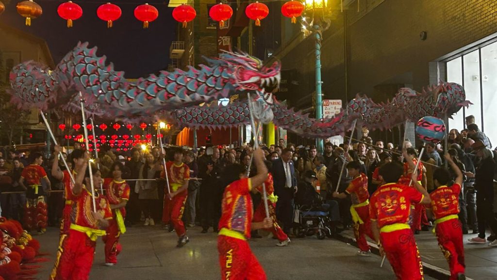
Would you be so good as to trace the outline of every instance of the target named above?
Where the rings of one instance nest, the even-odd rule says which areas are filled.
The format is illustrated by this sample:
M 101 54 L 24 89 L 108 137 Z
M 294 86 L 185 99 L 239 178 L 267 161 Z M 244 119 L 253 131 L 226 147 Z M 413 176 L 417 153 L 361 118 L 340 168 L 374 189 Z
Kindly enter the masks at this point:
M 357 252 L 359 256 L 371 256 L 366 236 L 374 239 L 371 232 L 371 221 L 369 219 L 369 192 L 368 192 L 368 177 L 366 174 L 361 173 L 361 164 L 357 161 L 351 161 L 347 164 L 347 171 L 350 177 L 354 178 L 349 183 L 344 193 L 334 192 L 333 197 L 344 199 L 350 195 L 352 206 L 350 207 L 350 214 L 354 221 L 354 235 L 357 240 L 357 246 L 360 251 Z

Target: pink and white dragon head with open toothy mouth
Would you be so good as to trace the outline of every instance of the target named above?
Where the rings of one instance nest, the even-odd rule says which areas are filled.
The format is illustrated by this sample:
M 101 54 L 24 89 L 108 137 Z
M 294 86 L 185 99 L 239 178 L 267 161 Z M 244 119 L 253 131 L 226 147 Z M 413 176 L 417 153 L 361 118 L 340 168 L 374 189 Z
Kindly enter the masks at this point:
M 219 58 L 208 59 L 211 67 L 223 66 L 229 69 L 234 85 L 241 91 L 258 93 L 273 91 L 280 82 L 281 66 L 279 62 L 271 66 L 245 53 L 225 52 Z

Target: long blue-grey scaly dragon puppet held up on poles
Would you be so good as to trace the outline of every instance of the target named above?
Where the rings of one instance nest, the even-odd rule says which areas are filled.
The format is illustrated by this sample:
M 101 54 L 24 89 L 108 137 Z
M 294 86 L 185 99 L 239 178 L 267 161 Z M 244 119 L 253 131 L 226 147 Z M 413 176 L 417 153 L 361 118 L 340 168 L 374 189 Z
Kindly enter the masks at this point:
M 389 129 L 425 116 L 450 117 L 470 104 L 462 86 L 441 82 L 420 93 L 403 88 L 382 104 L 358 95 L 337 116 L 316 120 L 280 105 L 268 94 L 279 84 L 279 63 L 265 67 L 247 54 L 223 53 L 207 59 L 208 66 L 160 71 L 130 82 L 124 72 L 105 64 L 105 56 L 96 56 L 96 47 L 87 45 L 79 43 L 55 70 L 32 61 L 15 66 L 10 72 L 11 100 L 24 108 L 72 110 L 81 108 L 84 100 L 88 113 L 110 119 L 143 120 L 166 114 L 180 127 L 230 127 L 249 123 L 247 103 L 199 105 L 249 93 L 266 103 L 262 107 L 272 111 L 275 125 L 310 138 L 343 134 L 354 120 L 370 129 Z

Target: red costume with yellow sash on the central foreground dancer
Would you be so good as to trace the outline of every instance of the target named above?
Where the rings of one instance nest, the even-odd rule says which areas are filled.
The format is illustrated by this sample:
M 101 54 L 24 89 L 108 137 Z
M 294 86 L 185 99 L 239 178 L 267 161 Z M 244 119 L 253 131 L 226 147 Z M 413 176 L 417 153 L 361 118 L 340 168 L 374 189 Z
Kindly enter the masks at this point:
M 266 279 L 247 242 L 252 221 L 251 189 L 250 179 L 244 178 L 231 183 L 224 191 L 218 237 L 223 280 Z

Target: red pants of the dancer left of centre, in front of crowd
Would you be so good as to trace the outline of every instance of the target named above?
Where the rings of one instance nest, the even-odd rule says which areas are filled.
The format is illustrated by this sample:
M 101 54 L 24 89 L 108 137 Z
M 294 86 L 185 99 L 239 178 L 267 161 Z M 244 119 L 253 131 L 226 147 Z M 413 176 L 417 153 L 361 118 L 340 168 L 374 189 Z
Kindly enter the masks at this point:
M 169 221 L 174 225 L 174 230 L 178 237 L 181 237 L 185 234 L 185 226 L 181 218 L 183 217 L 183 211 L 185 209 L 185 202 L 188 193 L 182 192 L 177 194 L 169 200 L 167 195 L 164 198 L 164 210 L 162 213 L 162 221 L 165 224 L 168 224 Z

